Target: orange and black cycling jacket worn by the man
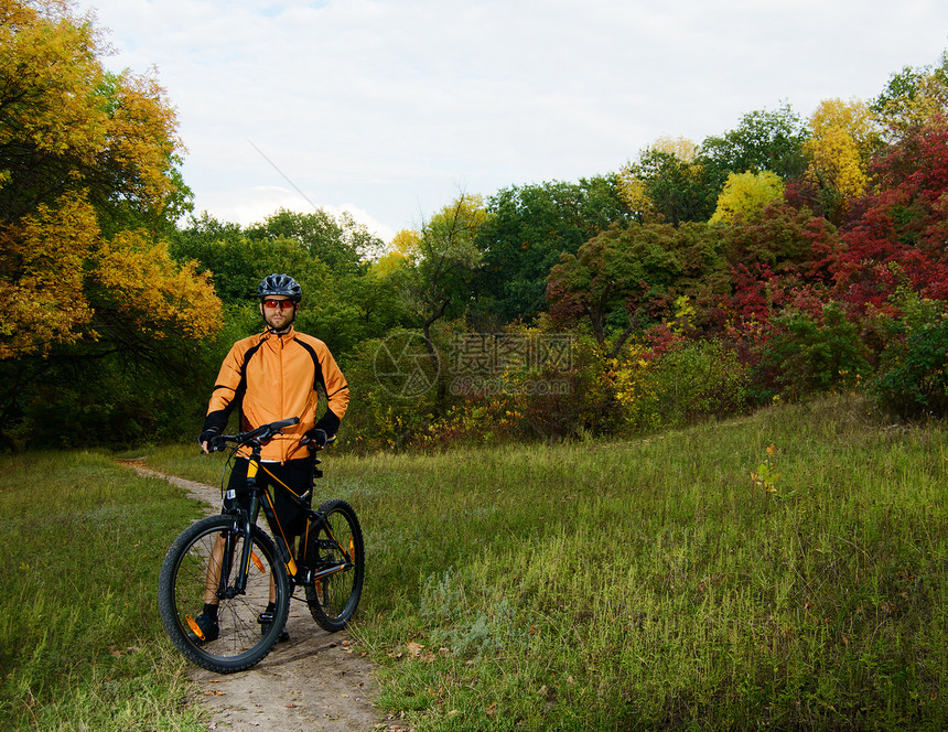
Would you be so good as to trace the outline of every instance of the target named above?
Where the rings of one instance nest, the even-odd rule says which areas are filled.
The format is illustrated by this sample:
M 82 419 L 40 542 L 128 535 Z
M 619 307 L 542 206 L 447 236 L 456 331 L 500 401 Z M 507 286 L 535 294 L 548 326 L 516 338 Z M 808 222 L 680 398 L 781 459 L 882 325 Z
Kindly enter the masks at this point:
M 319 421 L 316 386 L 328 397 Z M 284 462 L 306 456 L 300 440 L 314 427 L 335 434 L 348 402 L 348 385 L 326 344 L 291 326 L 282 335 L 268 331 L 234 344 L 217 374 L 204 429 L 223 431 L 236 405 L 241 431 L 299 417 L 299 424 L 286 428 L 260 453 L 262 460 Z

